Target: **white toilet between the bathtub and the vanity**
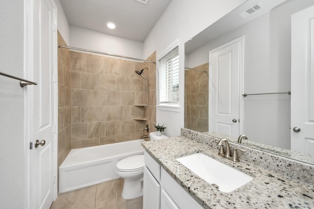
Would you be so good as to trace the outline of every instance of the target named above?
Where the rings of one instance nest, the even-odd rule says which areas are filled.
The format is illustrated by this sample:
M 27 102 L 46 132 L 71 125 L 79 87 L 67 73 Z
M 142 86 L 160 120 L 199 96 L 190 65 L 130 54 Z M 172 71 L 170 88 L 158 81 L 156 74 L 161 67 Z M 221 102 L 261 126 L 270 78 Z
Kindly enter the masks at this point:
M 168 138 L 157 136 L 156 132 L 149 134 L 152 141 Z M 117 163 L 116 172 L 124 179 L 122 197 L 125 200 L 135 199 L 143 195 L 144 155 L 134 155 Z

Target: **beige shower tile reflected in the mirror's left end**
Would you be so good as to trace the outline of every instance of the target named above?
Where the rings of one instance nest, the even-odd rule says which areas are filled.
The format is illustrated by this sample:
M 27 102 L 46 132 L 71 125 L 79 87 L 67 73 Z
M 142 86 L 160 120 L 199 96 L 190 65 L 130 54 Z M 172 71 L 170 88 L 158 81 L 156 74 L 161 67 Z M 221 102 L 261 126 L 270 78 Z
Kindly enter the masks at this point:
M 208 70 L 209 64 L 194 67 Z M 184 127 L 200 132 L 208 131 L 209 77 L 206 72 L 184 71 Z

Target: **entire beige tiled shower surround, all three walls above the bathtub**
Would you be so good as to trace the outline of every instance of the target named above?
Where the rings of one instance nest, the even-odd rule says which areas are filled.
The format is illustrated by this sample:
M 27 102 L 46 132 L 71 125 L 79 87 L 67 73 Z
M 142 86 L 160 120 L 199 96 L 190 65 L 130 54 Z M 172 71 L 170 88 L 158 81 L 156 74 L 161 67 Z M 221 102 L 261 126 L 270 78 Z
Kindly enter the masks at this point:
M 59 39 L 62 39 L 60 35 Z M 65 45 L 63 39 L 59 44 Z M 147 60 L 156 61 L 156 53 Z M 151 131 L 155 131 L 154 63 L 140 63 L 64 48 L 58 49 L 58 62 L 66 66 L 58 67 L 59 131 L 65 129 L 64 134 L 59 133 L 58 149 L 60 152 L 67 150 L 60 157 L 59 165 L 70 149 L 140 139 L 147 135 L 143 131 L 146 124 Z M 142 106 L 146 102 L 145 80 L 135 73 L 135 70 L 145 67 L 149 68 L 144 70 L 149 91 L 146 109 Z

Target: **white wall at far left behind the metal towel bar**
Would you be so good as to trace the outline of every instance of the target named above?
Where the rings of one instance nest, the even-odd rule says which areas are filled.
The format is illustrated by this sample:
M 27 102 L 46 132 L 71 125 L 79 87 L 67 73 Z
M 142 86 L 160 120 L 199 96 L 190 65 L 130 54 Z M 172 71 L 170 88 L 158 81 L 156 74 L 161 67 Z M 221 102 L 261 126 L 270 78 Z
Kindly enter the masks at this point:
M 1 72 L 24 77 L 24 1 L 0 1 Z M 0 208 L 24 208 L 24 90 L 0 75 Z

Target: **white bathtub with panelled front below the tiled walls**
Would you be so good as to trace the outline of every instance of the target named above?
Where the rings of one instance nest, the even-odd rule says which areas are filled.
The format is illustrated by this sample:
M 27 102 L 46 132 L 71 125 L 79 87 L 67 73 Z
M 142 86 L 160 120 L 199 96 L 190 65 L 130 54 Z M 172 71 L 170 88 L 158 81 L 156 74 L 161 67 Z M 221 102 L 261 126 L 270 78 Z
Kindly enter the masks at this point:
M 72 149 L 59 167 L 59 192 L 117 179 L 116 164 L 144 154 L 144 139 Z

